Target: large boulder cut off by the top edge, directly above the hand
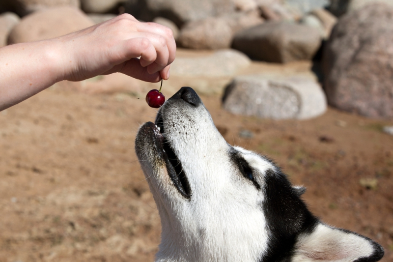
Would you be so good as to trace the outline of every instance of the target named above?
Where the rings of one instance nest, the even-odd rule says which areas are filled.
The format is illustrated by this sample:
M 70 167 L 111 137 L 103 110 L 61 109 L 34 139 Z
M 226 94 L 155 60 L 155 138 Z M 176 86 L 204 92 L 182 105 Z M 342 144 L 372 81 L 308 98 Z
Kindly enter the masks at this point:
M 142 21 L 161 16 L 179 28 L 185 23 L 234 12 L 232 0 L 138 0 L 127 1 L 125 11 Z

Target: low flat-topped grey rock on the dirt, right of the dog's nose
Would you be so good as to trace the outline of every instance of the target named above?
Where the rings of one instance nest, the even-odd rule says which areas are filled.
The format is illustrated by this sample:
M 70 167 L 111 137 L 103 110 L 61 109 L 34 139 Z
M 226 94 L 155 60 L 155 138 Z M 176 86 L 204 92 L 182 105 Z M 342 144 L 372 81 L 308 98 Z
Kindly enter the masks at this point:
M 301 77 L 236 77 L 226 88 L 224 109 L 237 115 L 273 119 L 307 119 L 327 108 L 322 88 Z

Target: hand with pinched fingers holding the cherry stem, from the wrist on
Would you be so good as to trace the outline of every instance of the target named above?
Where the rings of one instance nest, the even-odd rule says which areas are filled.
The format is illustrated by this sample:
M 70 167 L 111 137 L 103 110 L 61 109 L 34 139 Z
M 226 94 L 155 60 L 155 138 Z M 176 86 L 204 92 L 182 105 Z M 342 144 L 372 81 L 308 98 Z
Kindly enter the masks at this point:
M 70 81 L 114 72 L 147 82 L 167 80 L 176 52 L 170 29 L 129 14 L 54 40 L 63 54 L 63 80 Z

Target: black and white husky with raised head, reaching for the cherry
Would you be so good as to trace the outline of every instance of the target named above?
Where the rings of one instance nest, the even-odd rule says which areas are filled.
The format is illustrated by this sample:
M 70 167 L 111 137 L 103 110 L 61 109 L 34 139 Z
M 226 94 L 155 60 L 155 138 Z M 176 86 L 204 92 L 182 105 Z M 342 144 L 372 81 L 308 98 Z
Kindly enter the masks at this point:
M 157 262 L 375 262 L 371 239 L 319 221 L 272 161 L 230 146 L 191 87 L 142 125 L 136 152 L 162 223 Z

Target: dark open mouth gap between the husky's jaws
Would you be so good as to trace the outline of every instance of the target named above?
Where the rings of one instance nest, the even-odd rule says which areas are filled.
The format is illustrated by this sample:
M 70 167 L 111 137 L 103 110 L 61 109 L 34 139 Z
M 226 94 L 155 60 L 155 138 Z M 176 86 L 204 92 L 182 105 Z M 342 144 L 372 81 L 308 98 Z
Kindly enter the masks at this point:
M 168 175 L 172 180 L 176 189 L 180 192 L 182 196 L 187 199 L 191 198 L 191 189 L 190 184 L 188 182 L 187 176 L 183 170 L 183 166 L 179 161 L 179 158 L 173 151 L 169 141 L 165 137 L 164 130 L 164 119 L 161 114 L 157 116 L 154 127 L 157 130 L 154 130 L 154 134 L 158 143 L 161 143 L 163 148 L 163 158 L 166 163 Z

